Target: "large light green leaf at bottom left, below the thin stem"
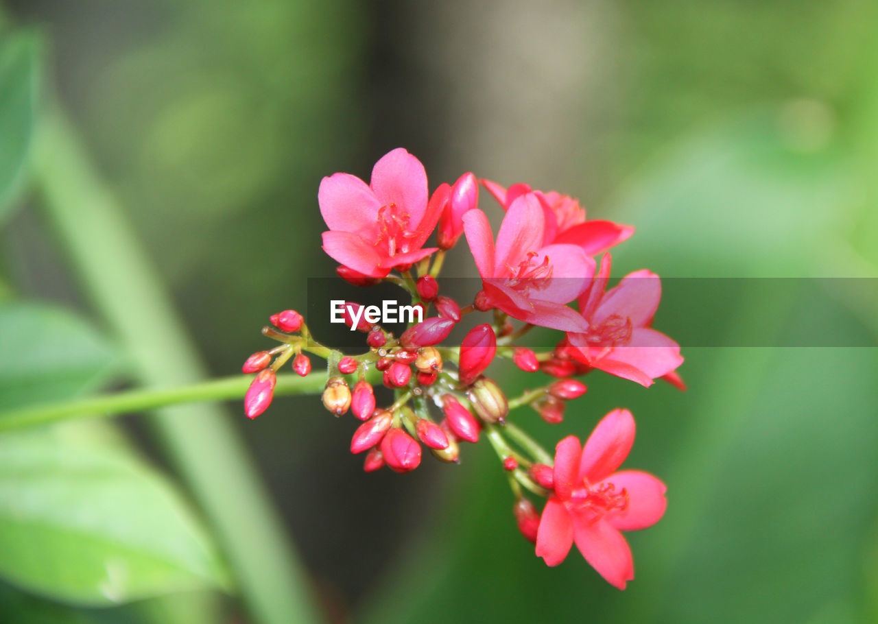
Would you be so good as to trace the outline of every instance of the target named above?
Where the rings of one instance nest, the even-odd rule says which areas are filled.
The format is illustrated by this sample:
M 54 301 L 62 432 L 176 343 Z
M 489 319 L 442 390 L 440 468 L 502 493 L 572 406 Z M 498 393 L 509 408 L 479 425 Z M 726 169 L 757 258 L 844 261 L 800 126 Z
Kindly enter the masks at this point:
M 77 605 L 225 584 L 169 481 L 124 449 L 49 431 L 0 438 L 0 575 Z

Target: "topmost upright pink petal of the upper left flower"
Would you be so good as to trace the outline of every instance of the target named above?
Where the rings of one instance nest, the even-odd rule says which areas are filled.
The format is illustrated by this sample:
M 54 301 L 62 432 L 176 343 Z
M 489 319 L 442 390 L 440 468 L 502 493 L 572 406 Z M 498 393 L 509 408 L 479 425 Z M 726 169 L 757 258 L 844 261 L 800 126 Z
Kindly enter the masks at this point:
M 381 205 L 397 204 L 404 210 L 410 228 L 421 223 L 427 209 L 427 172 L 404 148 L 391 150 L 375 163 L 371 187 Z

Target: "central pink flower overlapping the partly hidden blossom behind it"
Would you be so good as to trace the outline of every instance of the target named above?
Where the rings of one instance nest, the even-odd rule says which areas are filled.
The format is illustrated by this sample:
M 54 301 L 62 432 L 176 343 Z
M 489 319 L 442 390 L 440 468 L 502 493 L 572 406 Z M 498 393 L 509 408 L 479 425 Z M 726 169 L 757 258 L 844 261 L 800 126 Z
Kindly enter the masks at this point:
M 587 330 L 587 322 L 565 304 L 586 289 L 594 260 L 575 245 L 545 244 L 546 218 L 534 193 L 509 206 L 496 246 L 484 212 L 474 209 L 463 219 L 488 305 L 534 325 Z

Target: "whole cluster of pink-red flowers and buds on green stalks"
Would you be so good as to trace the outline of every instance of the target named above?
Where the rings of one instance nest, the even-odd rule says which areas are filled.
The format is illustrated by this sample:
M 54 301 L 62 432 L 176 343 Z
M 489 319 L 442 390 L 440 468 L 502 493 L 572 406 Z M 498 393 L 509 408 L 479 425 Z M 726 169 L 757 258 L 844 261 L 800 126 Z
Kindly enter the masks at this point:
M 479 187 L 505 211 L 496 237 L 479 209 Z M 245 373 L 255 373 L 244 399 L 247 416 L 269 406 L 286 362 L 306 377 L 306 354 L 324 358 L 323 405 L 335 416 L 352 412 L 362 421 L 350 450 L 365 454 L 364 470 L 414 470 L 424 448 L 456 463 L 463 442 L 487 439 L 507 472 L 517 525 L 536 543 L 536 555 L 557 565 L 575 542 L 602 577 L 623 589 L 634 568 L 621 532 L 650 527 L 666 506 L 658 478 L 616 470 L 634 441 L 631 413 L 608 413 L 584 446 L 565 437 L 554 457 L 508 416 L 529 405 L 544 421 L 561 422 L 567 403 L 587 391 L 574 377 L 593 369 L 644 386 L 664 378 L 684 387 L 676 373 L 683 362 L 679 345 L 651 328 L 659 276 L 640 270 L 608 289 L 608 249 L 634 228 L 587 219 L 572 197 L 523 183 L 506 189 L 471 173 L 429 194 L 421 162 L 402 148 L 375 164 L 370 183 L 345 173 L 325 177 L 318 200 L 329 228 L 323 249 L 340 263 L 338 275 L 357 286 L 398 284 L 424 318 L 394 336 L 348 302 L 344 319 L 365 334 L 368 349 L 342 355 L 315 341 L 298 312 L 275 314 L 263 334 L 280 345 L 244 363 Z M 434 233 L 435 247 L 425 247 Z M 466 305 L 441 295 L 437 280 L 446 252 L 459 240 L 481 278 Z M 489 322 L 446 344 L 464 317 L 479 312 L 491 312 Z M 555 348 L 537 353 L 520 344 L 535 326 L 562 333 Z M 497 359 L 535 374 L 536 389 L 507 398 L 486 376 Z M 377 404 L 373 385 L 379 382 L 392 389 L 392 405 Z M 542 513 L 525 491 L 546 499 Z

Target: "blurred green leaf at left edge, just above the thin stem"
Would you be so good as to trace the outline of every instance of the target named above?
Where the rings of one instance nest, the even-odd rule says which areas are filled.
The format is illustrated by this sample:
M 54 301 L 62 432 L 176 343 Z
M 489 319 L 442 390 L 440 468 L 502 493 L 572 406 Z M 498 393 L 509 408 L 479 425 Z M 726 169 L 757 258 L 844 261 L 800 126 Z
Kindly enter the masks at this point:
M 0 411 L 90 391 L 119 357 L 83 319 L 51 305 L 0 304 Z

